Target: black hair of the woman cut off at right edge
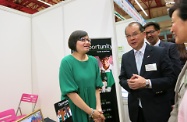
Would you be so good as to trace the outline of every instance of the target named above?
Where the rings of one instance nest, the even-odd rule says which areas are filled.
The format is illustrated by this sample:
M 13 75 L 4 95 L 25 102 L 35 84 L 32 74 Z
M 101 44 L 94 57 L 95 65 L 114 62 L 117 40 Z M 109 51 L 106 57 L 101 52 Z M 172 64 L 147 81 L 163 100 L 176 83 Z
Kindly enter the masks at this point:
M 169 9 L 169 16 L 172 17 L 172 14 L 175 10 L 179 10 L 178 16 L 183 20 L 187 20 L 187 1 L 182 0 L 181 2 L 175 2 L 175 4 Z

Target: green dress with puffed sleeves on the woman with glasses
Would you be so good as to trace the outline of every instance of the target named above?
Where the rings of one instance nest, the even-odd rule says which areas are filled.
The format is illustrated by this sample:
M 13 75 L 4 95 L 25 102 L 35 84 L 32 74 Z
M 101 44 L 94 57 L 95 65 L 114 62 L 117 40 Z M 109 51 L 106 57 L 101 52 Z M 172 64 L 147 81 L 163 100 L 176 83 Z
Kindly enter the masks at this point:
M 96 88 L 102 87 L 102 80 L 97 59 L 88 56 L 87 61 L 79 61 L 72 55 L 64 57 L 59 71 L 61 99 L 68 99 L 67 94 L 76 92 L 91 108 L 96 108 Z M 89 122 L 89 115 L 78 108 L 70 99 L 73 122 Z

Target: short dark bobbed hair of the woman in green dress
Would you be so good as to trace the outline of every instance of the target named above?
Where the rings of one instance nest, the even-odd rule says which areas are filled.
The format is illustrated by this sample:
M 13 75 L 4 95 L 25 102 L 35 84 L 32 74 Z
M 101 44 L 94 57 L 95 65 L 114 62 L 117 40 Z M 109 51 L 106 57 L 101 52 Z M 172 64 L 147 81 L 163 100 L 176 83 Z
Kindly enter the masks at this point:
M 77 51 L 77 49 L 76 49 L 77 41 L 84 36 L 88 36 L 88 33 L 86 31 L 76 30 L 76 31 L 72 32 L 69 39 L 68 39 L 69 48 L 73 51 Z

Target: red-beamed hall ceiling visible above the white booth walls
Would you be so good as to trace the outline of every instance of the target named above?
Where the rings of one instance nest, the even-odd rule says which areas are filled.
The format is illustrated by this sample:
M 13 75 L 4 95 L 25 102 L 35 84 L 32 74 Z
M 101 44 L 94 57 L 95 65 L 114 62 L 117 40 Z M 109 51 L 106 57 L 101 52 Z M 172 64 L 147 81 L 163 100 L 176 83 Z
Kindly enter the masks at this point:
M 13 9 L 25 12 L 25 13 L 34 14 L 34 13 L 37 13 L 39 11 L 42 11 L 48 7 L 51 7 L 55 4 L 58 4 L 64 1 L 65 0 L 0 0 L 0 5 L 13 8 Z M 137 4 L 137 1 L 140 3 L 142 8 L 146 11 L 148 16 L 146 16 L 142 12 L 142 10 Z M 175 0 L 128 0 L 128 2 L 132 4 L 132 6 L 137 10 L 137 12 L 145 20 L 167 15 L 168 7 L 166 7 L 166 2 L 168 2 L 170 5 L 171 1 L 175 1 Z M 131 18 L 115 2 L 114 2 L 114 10 L 115 10 L 115 13 L 122 16 L 122 18 L 125 18 L 125 19 Z M 116 15 L 114 16 L 115 16 L 116 22 L 123 20 L 123 19 L 120 19 L 119 16 L 116 16 Z

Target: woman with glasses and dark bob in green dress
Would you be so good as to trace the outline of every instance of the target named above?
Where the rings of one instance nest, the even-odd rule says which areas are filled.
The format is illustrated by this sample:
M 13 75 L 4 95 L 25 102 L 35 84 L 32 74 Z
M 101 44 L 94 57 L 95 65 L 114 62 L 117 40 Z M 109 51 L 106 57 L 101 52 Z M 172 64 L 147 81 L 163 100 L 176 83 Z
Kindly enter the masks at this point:
M 68 99 L 73 122 L 103 122 L 100 91 L 102 81 L 97 59 L 86 53 L 91 40 L 87 32 L 74 31 L 68 40 L 73 51 L 65 56 L 60 65 L 59 81 L 61 99 Z

